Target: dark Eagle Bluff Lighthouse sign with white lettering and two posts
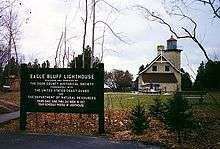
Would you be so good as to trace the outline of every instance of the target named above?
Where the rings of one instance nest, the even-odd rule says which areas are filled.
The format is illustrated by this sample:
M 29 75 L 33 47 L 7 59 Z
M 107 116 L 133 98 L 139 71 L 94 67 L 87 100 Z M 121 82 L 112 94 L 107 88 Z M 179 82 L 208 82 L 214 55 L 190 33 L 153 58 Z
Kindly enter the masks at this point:
M 104 132 L 104 65 L 92 69 L 21 66 L 21 130 L 27 112 L 99 114 Z

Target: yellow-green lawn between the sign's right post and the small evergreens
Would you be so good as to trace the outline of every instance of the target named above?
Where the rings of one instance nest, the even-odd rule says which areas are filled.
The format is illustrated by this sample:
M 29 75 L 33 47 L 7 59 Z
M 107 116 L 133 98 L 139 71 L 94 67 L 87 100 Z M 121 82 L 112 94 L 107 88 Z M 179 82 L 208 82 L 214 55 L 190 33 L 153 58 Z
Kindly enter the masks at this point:
M 106 93 L 105 94 L 105 109 L 110 108 L 113 110 L 130 110 L 138 104 L 144 105 L 148 108 L 153 104 L 153 99 L 161 98 L 166 102 L 171 96 L 158 96 L 146 94 L 132 94 L 132 93 Z

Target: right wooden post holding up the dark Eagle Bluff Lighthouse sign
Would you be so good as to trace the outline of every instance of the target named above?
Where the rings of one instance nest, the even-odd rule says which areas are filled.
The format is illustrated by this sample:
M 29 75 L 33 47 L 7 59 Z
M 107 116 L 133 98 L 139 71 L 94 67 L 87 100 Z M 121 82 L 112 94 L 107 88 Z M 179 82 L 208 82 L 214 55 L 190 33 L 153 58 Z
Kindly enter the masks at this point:
M 104 113 L 104 64 L 100 63 L 98 66 L 99 75 L 99 99 L 100 100 L 100 111 L 99 111 L 99 134 L 105 133 L 105 113 Z

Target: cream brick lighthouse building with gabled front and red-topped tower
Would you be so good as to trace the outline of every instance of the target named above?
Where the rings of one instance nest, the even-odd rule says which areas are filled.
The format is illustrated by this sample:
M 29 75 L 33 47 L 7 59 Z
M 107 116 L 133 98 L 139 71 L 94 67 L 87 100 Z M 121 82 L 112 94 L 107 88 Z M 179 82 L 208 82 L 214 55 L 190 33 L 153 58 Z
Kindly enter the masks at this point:
M 180 91 L 181 51 L 173 36 L 167 40 L 167 49 L 157 46 L 156 58 L 138 73 L 138 90 L 147 93 Z

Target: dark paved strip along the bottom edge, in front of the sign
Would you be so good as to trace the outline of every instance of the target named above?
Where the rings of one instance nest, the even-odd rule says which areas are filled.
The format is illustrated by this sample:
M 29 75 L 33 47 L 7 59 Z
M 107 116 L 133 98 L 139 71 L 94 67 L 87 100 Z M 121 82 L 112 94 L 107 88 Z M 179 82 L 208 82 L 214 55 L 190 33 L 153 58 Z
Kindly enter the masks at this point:
M 128 141 L 111 141 L 104 137 L 54 136 L 36 134 L 0 134 L 1 149 L 160 149 Z

